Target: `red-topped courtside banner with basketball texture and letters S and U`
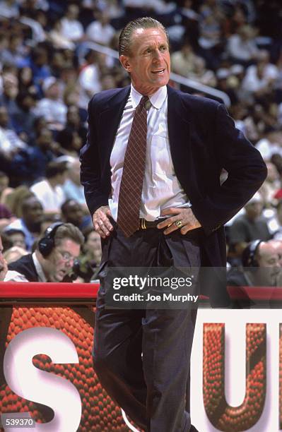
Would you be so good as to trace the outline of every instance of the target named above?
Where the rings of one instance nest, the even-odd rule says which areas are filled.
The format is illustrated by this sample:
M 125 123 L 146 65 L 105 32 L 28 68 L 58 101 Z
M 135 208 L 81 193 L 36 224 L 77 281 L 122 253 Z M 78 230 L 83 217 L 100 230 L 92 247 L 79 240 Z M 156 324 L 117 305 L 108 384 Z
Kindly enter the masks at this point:
M 10 306 L 8 293 L 12 299 L 15 292 L 1 284 L 1 432 L 139 431 L 93 370 L 97 287 L 59 285 L 64 305 L 55 303 L 52 284 L 37 284 L 37 292 L 20 284 L 23 304 L 13 299 Z M 44 299 L 48 304 L 40 304 Z M 191 370 L 192 423 L 199 431 L 282 429 L 281 325 L 279 309 L 199 309 Z

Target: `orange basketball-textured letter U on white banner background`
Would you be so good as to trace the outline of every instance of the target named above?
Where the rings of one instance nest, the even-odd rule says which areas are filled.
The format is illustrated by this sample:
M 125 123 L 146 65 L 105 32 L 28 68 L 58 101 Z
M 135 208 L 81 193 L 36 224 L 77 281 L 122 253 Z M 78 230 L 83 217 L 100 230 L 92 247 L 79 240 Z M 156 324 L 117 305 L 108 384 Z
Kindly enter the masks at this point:
M 246 325 L 246 391 L 238 407 L 225 399 L 225 325 L 205 323 L 203 335 L 204 407 L 219 431 L 246 431 L 262 415 L 266 395 L 266 325 Z M 239 360 L 240 361 L 240 360 Z M 281 393 L 280 393 L 281 394 Z

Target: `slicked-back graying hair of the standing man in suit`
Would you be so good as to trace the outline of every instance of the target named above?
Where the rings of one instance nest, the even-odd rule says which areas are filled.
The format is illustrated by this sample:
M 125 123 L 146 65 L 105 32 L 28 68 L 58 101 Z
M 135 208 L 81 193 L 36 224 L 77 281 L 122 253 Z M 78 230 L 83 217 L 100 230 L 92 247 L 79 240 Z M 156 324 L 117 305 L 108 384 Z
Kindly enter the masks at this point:
M 144 16 L 143 18 L 136 18 L 132 20 L 122 29 L 119 35 L 119 55 L 129 56 L 131 54 L 132 34 L 138 28 L 160 28 L 165 33 L 168 39 L 168 32 L 160 21 L 151 18 L 151 16 Z

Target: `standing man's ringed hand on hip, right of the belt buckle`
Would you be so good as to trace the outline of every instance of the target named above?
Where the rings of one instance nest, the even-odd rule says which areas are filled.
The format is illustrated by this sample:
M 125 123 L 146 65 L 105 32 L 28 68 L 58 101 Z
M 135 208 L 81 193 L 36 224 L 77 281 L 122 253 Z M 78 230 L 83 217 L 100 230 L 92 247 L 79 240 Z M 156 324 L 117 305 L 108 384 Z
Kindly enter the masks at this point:
M 158 229 L 166 227 L 164 234 L 180 229 L 181 234 L 187 234 L 192 229 L 201 227 L 199 220 L 196 219 L 191 208 L 170 207 L 162 210 L 160 216 L 167 216 L 168 219 L 158 224 Z

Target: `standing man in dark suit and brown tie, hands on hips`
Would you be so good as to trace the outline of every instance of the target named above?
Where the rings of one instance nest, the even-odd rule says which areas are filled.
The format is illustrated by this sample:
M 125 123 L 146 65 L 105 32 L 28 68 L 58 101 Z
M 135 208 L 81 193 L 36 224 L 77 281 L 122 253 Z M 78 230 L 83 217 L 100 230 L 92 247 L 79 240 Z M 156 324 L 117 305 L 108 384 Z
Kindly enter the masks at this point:
M 131 86 L 90 100 L 81 150 L 102 237 L 95 371 L 146 431 L 196 431 L 184 409 L 196 310 L 106 308 L 105 277 L 112 267 L 224 267 L 223 224 L 261 186 L 266 167 L 222 104 L 168 86 L 168 35 L 158 21 L 127 24 L 119 55 Z M 216 297 L 226 306 L 222 287 Z

